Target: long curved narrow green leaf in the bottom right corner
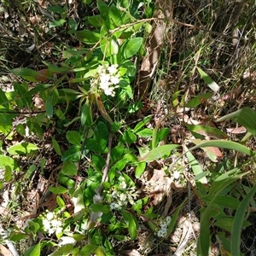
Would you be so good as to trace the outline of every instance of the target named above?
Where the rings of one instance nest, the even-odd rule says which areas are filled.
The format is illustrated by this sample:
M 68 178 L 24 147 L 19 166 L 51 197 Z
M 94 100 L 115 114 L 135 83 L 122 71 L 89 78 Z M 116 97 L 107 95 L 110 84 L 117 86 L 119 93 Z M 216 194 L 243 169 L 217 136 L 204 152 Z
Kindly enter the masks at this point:
M 238 207 L 234 224 L 232 227 L 232 236 L 231 236 L 231 255 L 240 255 L 240 243 L 241 243 L 241 230 L 243 220 L 245 219 L 245 214 L 248 210 L 248 205 L 250 201 L 253 199 L 253 196 L 256 193 L 256 185 L 253 185 L 252 189 L 247 193 L 244 199 L 241 201 L 240 206 Z

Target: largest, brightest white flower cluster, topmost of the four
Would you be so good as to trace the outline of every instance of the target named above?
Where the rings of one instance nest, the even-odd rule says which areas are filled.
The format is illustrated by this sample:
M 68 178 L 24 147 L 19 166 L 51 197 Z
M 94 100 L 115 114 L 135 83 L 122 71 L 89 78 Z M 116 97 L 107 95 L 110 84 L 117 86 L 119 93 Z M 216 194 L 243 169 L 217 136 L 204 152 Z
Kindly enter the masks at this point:
M 91 87 L 97 85 L 107 96 L 114 96 L 114 89 L 118 87 L 119 81 L 118 65 L 105 64 L 98 67 L 96 78 L 91 79 L 90 84 Z

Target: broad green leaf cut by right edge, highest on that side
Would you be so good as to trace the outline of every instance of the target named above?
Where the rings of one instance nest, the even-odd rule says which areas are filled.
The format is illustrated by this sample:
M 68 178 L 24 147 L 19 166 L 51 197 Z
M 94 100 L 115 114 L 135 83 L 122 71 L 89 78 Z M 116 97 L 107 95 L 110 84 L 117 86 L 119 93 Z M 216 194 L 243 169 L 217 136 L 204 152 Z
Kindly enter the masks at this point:
M 253 136 L 256 136 L 256 113 L 252 108 L 241 108 L 236 112 L 229 113 L 218 119 L 217 122 L 222 122 L 226 119 L 231 119 L 239 125 L 244 126 L 247 131 L 250 131 Z

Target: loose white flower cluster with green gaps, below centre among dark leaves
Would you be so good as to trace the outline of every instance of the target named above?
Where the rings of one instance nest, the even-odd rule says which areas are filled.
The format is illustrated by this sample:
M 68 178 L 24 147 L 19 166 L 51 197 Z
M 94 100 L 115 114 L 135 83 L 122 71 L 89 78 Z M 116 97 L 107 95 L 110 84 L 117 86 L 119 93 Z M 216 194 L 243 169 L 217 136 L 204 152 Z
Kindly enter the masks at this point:
M 119 186 L 118 188 L 113 188 L 111 194 L 110 209 L 120 210 L 122 207 L 126 206 L 128 202 L 133 205 L 136 197 L 135 187 L 127 188 L 125 178 L 119 177 Z

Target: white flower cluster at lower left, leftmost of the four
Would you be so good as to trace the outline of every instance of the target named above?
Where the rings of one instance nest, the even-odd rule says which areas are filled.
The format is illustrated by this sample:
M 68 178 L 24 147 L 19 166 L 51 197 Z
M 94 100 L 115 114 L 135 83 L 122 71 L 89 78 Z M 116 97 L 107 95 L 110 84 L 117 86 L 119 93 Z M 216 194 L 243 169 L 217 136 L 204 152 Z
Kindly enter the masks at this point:
M 63 224 L 61 218 L 57 216 L 57 213 L 47 210 L 46 213 L 40 215 L 40 218 L 43 222 L 44 231 L 47 232 L 49 236 L 54 233 L 60 234 L 62 232 Z

